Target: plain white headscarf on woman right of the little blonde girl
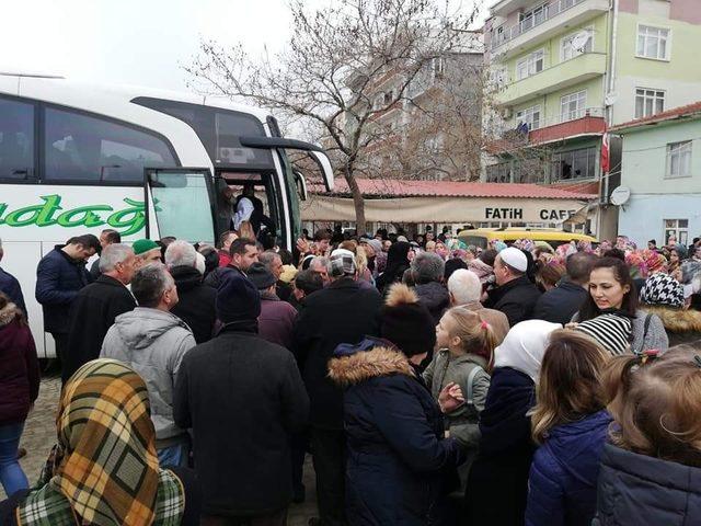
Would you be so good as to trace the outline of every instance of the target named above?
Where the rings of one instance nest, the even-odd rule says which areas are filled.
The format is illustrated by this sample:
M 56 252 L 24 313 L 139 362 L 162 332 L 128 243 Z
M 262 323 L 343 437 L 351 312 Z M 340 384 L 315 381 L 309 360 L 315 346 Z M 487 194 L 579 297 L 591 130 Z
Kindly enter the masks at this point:
M 562 329 L 562 325 L 543 320 L 517 323 L 494 351 L 494 367 L 512 367 L 538 382 L 550 333 L 556 329 Z

